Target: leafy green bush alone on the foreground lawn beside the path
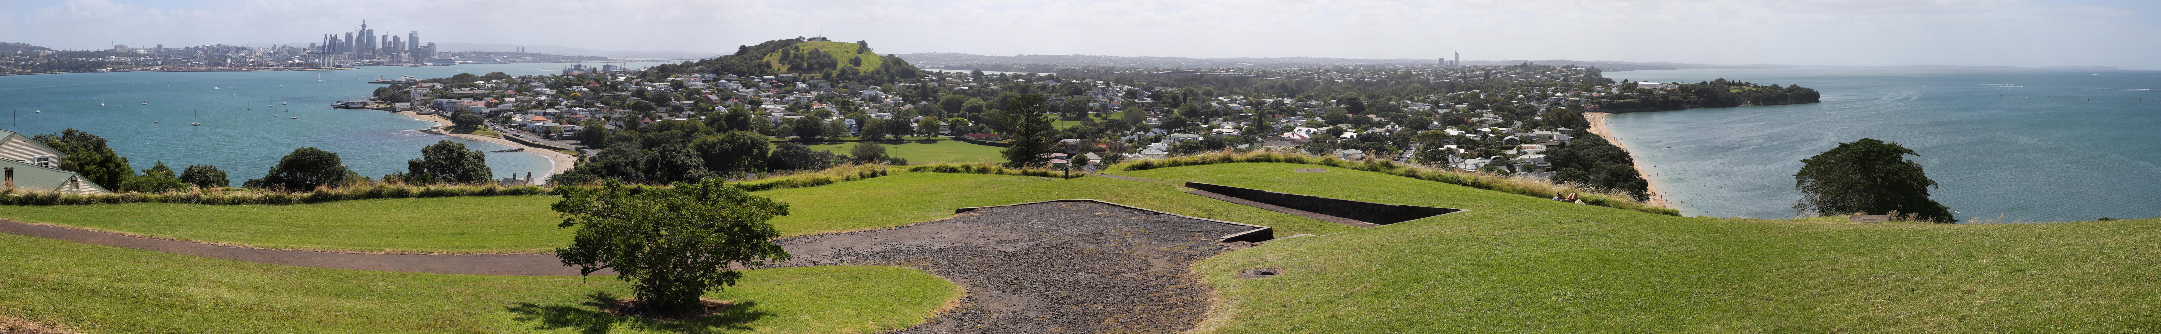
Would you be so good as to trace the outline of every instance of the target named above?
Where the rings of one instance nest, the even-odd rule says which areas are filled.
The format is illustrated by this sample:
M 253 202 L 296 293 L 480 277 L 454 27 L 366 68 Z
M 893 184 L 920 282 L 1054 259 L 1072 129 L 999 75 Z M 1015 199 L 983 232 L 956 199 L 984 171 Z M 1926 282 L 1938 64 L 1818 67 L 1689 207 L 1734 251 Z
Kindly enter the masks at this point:
M 733 287 L 741 272 L 730 263 L 761 267 L 789 261 L 774 243 L 780 237 L 767 220 L 787 215 L 789 205 L 754 196 L 722 179 L 676 183 L 674 187 L 562 187 L 553 205 L 564 215 L 560 228 L 577 226 L 571 248 L 558 248 L 564 265 L 579 274 L 614 269 L 631 282 L 635 308 L 646 315 L 694 315 L 704 310 L 698 295 Z

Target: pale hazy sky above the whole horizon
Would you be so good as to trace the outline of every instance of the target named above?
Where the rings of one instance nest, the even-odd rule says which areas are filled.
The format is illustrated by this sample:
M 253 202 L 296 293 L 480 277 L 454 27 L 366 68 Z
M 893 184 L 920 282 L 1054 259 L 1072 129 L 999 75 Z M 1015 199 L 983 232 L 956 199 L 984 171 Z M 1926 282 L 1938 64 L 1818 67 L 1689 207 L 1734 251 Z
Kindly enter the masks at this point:
M 2157 0 L 0 0 L 0 41 L 305 45 L 361 4 L 421 41 L 640 52 L 823 34 L 882 54 L 2161 69 Z

